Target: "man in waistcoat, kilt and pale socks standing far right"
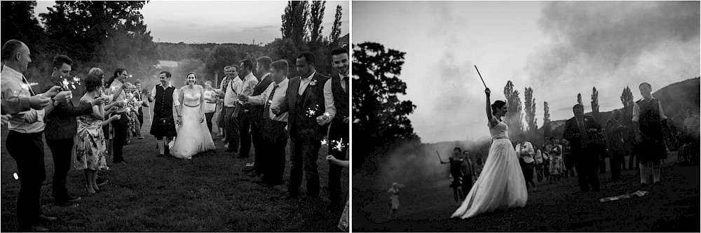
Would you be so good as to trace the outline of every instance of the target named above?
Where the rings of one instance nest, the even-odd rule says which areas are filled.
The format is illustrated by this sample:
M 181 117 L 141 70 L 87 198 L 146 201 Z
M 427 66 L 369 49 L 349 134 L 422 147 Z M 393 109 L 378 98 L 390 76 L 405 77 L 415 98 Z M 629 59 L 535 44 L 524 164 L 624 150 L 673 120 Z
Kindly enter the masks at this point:
M 660 184 L 660 160 L 667 158 L 663 128 L 668 128 L 667 116 L 662 102 L 653 98 L 652 85 L 641 83 L 643 99 L 633 103 L 633 132 L 635 132 L 636 154 L 640 161 L 640 185 L 647 185 L 650 175 L 655 185 Z

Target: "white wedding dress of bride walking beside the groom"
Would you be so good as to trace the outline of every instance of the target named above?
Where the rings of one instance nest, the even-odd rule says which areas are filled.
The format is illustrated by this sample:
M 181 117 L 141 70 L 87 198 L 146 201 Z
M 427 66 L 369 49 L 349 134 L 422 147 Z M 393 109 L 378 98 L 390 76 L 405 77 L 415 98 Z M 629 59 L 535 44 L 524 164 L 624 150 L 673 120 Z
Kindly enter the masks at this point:
M 177 137 L 170 146 L 170 154 L 189 160 L 197 153 L 214 150 L 215 142 L 207 128 L 207 122 L 200 122 L 205 116 L 200 112 L 200 93 L 194 96 L 183 93 L 182 125 L 177 126 Z M 189 107 L 196 106 L 196 107 Z

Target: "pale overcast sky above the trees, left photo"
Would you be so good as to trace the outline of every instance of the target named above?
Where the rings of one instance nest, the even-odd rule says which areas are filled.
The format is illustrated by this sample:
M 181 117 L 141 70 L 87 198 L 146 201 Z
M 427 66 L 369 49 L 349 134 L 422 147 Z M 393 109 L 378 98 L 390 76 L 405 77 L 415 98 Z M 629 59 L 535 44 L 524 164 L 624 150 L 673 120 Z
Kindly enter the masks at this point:
M 39 1 L 36 15 L 54 1 Z M 349 2 L 327 1 L 322 35 L 329 36 L 340 5 L 341 36 L 349 32 Z M 256 43 L 281 38 L 287 1 L 149 1 L 141 13 L 154 41 L 171 43 Z M 38 16 L 37 16 L 38 18 Z

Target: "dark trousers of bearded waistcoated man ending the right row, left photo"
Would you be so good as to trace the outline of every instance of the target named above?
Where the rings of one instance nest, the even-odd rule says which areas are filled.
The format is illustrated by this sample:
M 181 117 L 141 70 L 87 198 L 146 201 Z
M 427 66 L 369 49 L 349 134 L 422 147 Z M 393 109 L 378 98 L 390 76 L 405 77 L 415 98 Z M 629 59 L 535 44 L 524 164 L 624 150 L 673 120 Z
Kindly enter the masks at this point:
M 338 120 L 336 120 L 338 119 Z M 329 155 L 336 159 L 346 160 L 346 150 L 348 150 L 348 123 L 342 118 L 335 118 L 329 129 Z M 341 143 L 341 146 L 339 146 Z M 341 150 L 339 150 L 339 148 Z M 343 167 L 329 162 L 329 201 L 332 204 L 341 203 L 341 171 Z

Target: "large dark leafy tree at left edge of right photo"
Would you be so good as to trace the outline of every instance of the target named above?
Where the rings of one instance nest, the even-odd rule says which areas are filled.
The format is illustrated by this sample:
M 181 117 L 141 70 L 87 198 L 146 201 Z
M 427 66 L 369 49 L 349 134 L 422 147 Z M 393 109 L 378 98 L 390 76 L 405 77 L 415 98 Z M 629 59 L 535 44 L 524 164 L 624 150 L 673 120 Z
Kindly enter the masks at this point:
M 354 166 L 376 148 L 419 140 L 407 118 L 416 106 L 397 97 L 407 89 L 400 79 L 404 55 L 379 43 L 353 45 L 353 139 L 362 145 Z

